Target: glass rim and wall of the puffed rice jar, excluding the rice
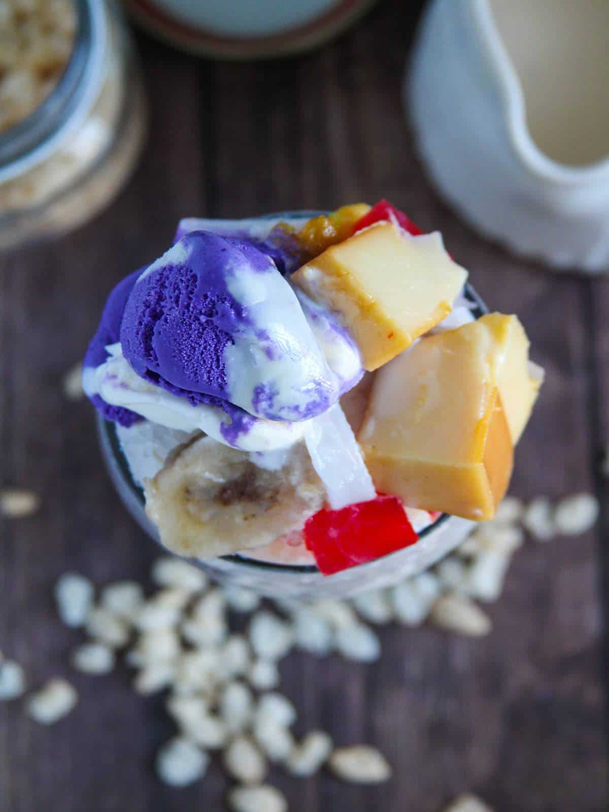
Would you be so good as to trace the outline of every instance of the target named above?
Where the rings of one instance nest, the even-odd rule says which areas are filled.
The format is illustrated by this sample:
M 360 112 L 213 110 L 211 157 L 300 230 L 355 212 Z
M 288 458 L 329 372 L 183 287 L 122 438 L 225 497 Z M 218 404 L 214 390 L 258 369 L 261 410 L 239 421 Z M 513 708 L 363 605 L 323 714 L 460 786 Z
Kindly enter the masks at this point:
M 123 185 L 145 135 L 132 43 L 113 0 L 73 0 L 76 36 L 58 84 L 0 134 L 0 248 L 79 226 Z

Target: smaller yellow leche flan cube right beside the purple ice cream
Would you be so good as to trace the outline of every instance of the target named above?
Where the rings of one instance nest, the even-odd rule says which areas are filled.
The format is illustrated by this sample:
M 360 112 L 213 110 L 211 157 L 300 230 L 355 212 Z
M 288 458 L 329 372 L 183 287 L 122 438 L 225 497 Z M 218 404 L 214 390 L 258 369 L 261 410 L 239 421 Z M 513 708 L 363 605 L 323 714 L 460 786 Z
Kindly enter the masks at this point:
M 305 293 L 341 314 L 369 371 L 441 322 L 466 279 L 438 232 L 412 236 L 391 222 L 326 248 L 292 275 Z

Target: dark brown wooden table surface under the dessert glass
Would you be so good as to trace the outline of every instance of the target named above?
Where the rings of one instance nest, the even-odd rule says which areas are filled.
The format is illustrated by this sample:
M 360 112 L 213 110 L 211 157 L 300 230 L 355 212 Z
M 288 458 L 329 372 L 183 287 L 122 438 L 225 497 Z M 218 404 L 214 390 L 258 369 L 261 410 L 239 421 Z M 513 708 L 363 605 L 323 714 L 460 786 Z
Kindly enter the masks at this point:
M 395 775 L 364 789 L 328 775 L 276 782 L 296 812 L 438 812 L 470 789 L 497 812 L 607 809 L 609 283 L 508 255 L 430 188 L 400 99 L 418 6 L 381 2 L 333 45 L 277 63 L 197 61 L 138 36 L 150 136 L 131 184 L 87 227 L 0 258 L 0 482 L 44 500 L 37 516 L 2 525 L 0 649 L 32 684 L 67 675 L 81 695 L 53 728 L 19 702 L 0 706 L 0 812 L 222 809 L 218 767 L 184 790 L 155 779 L 154 751 L 171 735 L 160 699 L 136 697 L 127 672 L 92 678 L 67 665 L 80 635 L 56 618 L 58 575 L 143 578 L 156 550 L 110 486 L 93 410 L 67 402 L 61 379 L 110 287 L 162 253 L 180 217 L 379 197 L 443 231 L 493 308 L 520 314 L 546 367 L 512 492 L 592 490 L 603 512 L 583 538 L 518 552 L 485 639 L 390 627 L 372 667 L 287 659 L 298 729 L 374 743 Z

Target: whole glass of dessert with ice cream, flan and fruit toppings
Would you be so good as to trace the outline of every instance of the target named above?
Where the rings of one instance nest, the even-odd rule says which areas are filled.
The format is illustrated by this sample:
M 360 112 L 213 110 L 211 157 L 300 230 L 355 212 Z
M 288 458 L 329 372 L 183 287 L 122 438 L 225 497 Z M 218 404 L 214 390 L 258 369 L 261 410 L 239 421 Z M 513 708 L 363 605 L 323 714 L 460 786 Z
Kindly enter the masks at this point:
M 378 267 L 389 284 L 373 297 Z M 485 315 L 466 276 L 386 201 L 181 221 L 114 289 L 85 358 L 132 516 L 214 577 L 280 598 L 434 564 L 495 512 L 540 383 L 520 322 Z M 443 427 L 447 404 L 460 433 Z

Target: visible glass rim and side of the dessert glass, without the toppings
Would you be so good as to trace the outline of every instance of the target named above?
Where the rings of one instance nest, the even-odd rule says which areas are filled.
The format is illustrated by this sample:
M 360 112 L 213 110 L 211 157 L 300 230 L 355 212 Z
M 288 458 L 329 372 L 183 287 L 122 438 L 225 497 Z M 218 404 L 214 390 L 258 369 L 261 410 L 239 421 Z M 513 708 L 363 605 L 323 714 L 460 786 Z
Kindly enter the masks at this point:
M 314 214 L 320 213 L 282 212 L 262 215 L 257 219 L 280 218 L 289 221 L 298 216 L 309 217 Z M 479 318 L 488 313 L 486 305 L 469 284 L 465 285 L 464 297 L 469 301 L 474 317 Z M 115 424 L 106 421 L 97 412 L 97 430 L 102 456 L 120 498 L 145 533 L 160 544 L 158 530 L 146 516 L 144 492 L 132 477 Z M 217 581 L 245 586 L 272 598 L 344 598 L 358 592 L 395 585 L 422 572 L 459 546 L 474 526 L 472 521 L 445 513 L 438 517 L 434 525 L 421 531 L 416 544 L 330 576 L 323 576 L 317 567 L 310 564 L 277 564 L 249 558 L 244 554 L 192 563 L 199 564 Z

